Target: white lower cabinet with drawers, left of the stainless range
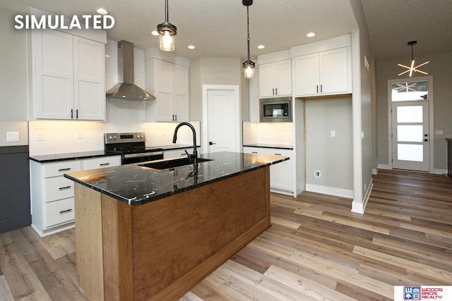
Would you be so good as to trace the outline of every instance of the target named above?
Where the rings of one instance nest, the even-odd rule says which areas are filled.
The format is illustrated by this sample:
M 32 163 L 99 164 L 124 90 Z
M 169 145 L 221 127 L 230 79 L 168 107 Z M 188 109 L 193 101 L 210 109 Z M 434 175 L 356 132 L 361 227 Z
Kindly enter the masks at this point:
M 38 163 L 30 160 L 32 228 L 40 236 L 74 226 L 74 183 L 64 173 L 121 165 L 121 156 Z

